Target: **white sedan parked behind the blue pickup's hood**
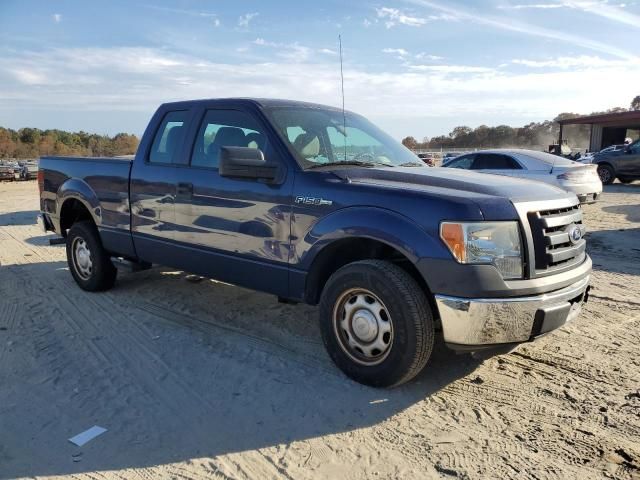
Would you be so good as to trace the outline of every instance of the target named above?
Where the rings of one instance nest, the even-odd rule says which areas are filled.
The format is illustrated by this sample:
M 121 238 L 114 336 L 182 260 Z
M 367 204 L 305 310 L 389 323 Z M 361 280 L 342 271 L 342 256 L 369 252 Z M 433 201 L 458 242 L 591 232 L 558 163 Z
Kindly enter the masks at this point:
M 595 202 L 602 193 L 597 165 L 535 150 L 481 150 L 456 157 L 442 166 L 550 183 L 575 193 L 581 203 Z

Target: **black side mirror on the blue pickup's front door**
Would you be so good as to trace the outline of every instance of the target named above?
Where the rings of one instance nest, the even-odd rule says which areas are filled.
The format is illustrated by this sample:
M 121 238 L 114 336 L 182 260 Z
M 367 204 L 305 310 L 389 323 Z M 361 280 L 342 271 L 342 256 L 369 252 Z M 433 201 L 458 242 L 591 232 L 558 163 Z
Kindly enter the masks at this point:
M 271 182 L 278 178 L 278 166 L 267 163 L 259 148 L 221 147 L 218 171 L 220 176 L 229 178 Z

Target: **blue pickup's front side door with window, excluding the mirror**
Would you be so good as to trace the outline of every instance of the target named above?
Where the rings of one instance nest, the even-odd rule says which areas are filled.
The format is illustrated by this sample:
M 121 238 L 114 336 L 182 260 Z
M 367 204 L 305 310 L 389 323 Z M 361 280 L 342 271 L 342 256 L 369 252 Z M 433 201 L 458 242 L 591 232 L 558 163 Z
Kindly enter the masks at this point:
M 280 183 L 223 177 L 222 147 L 260 148 L 283 162 L 264 125 L 247 111 L 212 108 L 191 140 L 188 165 L 177 171 L 175 240 L 190 271 L 229 283 L 288 294 L 293 175 Z

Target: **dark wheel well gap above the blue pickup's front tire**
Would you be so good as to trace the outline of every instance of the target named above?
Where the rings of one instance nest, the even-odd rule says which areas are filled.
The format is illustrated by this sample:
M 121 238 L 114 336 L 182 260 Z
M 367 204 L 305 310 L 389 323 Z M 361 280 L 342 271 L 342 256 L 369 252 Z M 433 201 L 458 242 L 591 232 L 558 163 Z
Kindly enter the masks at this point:
M 327 280 L 335 271 L 348 263 L 369 259 L 387 260 L 401 267 L 423 288 L 427 293 L 429 303 L 434 307 L 433 295 L 431 295 L 429 286 L 413 262 L 392 246 L 368 238 L 336 240 L 324 247 L 313 261 L 307 275 L 305 301 L 316 305 L 320 301 Z M 433 308 L 433 311 L 435 313 L 437 309 Z

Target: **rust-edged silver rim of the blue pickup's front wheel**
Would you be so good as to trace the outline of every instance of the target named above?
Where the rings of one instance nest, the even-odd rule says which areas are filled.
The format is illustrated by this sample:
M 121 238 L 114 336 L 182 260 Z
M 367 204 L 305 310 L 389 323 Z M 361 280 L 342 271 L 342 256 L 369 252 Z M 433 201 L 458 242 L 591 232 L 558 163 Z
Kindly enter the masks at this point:
M 366 289 L 350 289 L 336 301 L 333 327 L 340 348 L 354 362 L 378 365 L 393 344 L 393 322 L 384 303 Z

